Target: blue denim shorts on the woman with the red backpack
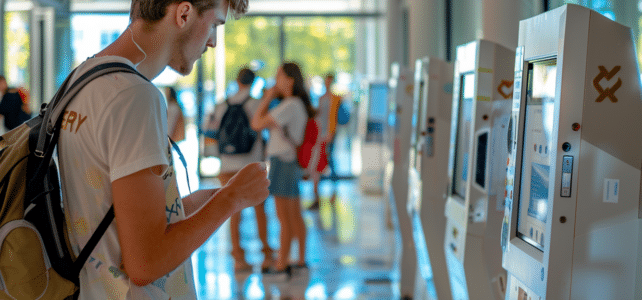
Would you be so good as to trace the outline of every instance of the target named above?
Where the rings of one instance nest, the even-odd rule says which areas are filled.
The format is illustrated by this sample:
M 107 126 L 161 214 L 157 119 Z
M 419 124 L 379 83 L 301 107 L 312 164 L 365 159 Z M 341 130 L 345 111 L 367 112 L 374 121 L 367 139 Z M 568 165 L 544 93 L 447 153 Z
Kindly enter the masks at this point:
M 299 179 L 303 176 L 299 163 L 285 162 L 278 157 L 270 157 L 270 194 L 283 198 L 299 197 Z

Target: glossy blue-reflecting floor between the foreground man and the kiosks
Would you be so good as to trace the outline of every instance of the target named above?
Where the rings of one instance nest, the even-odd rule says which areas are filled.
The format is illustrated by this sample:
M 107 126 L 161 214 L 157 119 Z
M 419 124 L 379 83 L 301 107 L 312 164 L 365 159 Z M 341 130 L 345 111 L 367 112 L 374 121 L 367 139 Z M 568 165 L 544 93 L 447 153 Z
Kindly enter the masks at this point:
M 201 182 L 202 188 L 216 186 L 216 180 Z M 360 194 L 356 180 L 336 185 L 323 181 L 320 190 L 320 209 L 304 212 L 308 271 L 295 271 L 290 280 L 262 275 L 263 254 L 254 210 L 246 209 L 242 213 L 241 246 L 247 262 L 255 266 L 254 272 L 234 274 L 227 222 L 192 256 L 199 299 L 398 298 L 395 239 L 385 221 L 387 200 Z M 335 190 L 337 197 L 332 205 L 329 199 Z M 312 184 L 301 182 L 301 191 L 307 207 L 312 201 Z M 266 210 L 268 240 L 278 249 L 279 222 L 272 198 L 267 200 Z M 293 245 L 292 255 L 297 255 L 296 242 Z

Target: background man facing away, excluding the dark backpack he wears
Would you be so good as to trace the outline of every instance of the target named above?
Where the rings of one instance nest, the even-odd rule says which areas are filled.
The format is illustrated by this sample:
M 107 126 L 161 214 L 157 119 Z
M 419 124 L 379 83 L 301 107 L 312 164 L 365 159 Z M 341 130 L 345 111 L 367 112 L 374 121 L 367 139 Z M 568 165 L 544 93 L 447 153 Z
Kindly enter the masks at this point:
M 229 105 L 242 104 L 245 109 L 245 113 L 248 119 L 251 120 L 252 115 L 256 112 L 260 102 L 257 99 L 253 99 L 250 96 L 250 88 L 254 82 L 256 75 L 254 72 L 248 68 L 242 68 L 238 76 L 236 77 L 236 83 L 238 84 L 239 91 L 226 102 L 223 102 L 214 108 L 214 112 L 211 117 L 211 130 L 219 131 L 221 126 L 221 120 L 223 116 L 228 111 Z M 229 103 L 229 105 L 228 105 Z M 258 134 L 257 134 L 258 135 Z M 260 136 L 254 141 L 252 150 L 249 153 L 244 154 L 219 154 L 221 160 L 221 171 L 218 175 L 221 185 L 227 184 L 227 182 L 234 177 L 236 172 L 247 164 L 258 162 L 263 160 L 263 141 Z M 267 239 L 267 217 L 265 215 L 265 204 L 261 203 L 254 207 L 254 212 L 256 213 L 256 223 L 259 229 L 259 238 L 263 243 L 263 264 L 261 265 L 262 271 L 267 271 L 270 266 L 272 266 L 272 249 L 268 244 Z M 230 218 L 230 236 L 232 238 L 232 257 L 234 258 L 234 271 L 248 272 L 252 270 L 252 266 L 249 265 L 245 260 L 245 251 L 241 247 L 241 238 L 239 227 L 241 225 L 241 212 L 235 213 Z

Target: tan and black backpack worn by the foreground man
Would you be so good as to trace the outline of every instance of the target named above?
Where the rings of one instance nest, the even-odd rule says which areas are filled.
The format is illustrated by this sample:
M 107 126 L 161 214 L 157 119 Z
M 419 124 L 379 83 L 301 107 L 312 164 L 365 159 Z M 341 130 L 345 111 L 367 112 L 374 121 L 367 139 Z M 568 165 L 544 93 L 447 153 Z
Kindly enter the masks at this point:
M 65 228 L 53 154 L 69 102 L 91 80 L 114 72 L 139 74 L 122 63 L 98 65 L 71 84 L 70 74 L 54 99 L 43 104 L 38 116 L 0 136 L 2 299 L 75 299 L 78 296 L 80 270 L 111 224 L 114 207 L 112 205 L 78 257 L 74 257 Z

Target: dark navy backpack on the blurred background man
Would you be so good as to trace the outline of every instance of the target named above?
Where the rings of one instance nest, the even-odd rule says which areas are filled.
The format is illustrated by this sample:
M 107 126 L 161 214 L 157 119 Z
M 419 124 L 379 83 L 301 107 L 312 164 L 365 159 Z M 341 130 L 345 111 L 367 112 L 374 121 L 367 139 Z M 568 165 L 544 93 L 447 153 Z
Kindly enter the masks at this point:
M 258 134 L 250 127 L 250 118 L 244 108 L 249 100 L 250 96 L 247 96 L 242 103 L 232 105 L 225 99 L 227 110 L 218 130 L 219 154 L 244 154 L 252 150 Z

